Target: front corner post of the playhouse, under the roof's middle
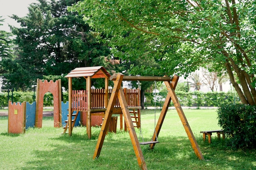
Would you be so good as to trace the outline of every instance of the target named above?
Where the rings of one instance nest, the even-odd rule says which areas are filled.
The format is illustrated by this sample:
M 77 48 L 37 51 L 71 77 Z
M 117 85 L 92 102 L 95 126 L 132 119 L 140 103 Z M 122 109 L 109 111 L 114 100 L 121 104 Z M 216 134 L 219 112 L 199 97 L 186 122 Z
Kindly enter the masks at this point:
M 91 77 L 86 78 L 86 90 L 87 90 L 87 118 L 86 118 L 86 132 L 88 139 L 91 139 Z

